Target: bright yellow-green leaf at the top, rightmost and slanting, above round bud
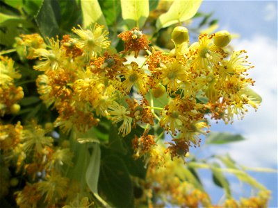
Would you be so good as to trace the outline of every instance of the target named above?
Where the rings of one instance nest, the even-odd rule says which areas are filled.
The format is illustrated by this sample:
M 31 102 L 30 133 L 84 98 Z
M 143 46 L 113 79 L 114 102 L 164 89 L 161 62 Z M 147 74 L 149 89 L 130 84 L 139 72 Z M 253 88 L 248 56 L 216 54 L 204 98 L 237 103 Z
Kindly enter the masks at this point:
M 199 6 L 201 6 L 202 1 L 199 0 L 175 0 L 170 6 L 169 10 L 158 17 L 156 21 L 156 28 L 165 28 L 172 24 L 186 21 L 193 17 Z

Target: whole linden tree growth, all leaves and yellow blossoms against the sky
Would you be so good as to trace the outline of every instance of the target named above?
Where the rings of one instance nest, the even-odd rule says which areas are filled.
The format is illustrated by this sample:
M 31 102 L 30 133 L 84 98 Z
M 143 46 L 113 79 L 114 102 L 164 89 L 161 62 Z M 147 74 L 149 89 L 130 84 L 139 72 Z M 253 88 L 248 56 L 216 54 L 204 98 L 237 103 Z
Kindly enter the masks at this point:
M 209 133 L 209 117 L 232 123 L 261 103 L 246 51 L 229 50 L 229 33 L 189 44 L 188 33 L 217 28 L 200 4 L 0 3 L 3 206 L 211 207 L 202 168 L 223 189 L 222 207 L 267 206 L 270 193 L 250 168 L 188 153 Z M 243 139 L 212 132 L 206 145 Z M 256 196 L 236 201 L 226 173 Z

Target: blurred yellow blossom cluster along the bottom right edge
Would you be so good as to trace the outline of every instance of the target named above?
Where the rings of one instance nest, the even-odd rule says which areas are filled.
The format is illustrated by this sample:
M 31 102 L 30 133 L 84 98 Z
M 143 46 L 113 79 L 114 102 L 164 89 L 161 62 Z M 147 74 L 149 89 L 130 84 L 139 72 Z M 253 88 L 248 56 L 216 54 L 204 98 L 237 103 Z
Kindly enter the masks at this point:
M 165 166 L 159 169 L 150 166 L 147 171 L 147 180 L 136 181 L 137 189 L 141 192 L 140 197 L 136 199 L 136 204 L 147 203 L 149 207 L 165 207 L 167 204 L 173 207 L 215 208 L 268 206 L 270 191 L 267 190 L 259 191 L 250 198 L 240 198 L 240 200 L 227 198 L 218 205 L 213 205 L 211 198 L 197 180 L 195 183 L 194 181 L 188 182 L 188 177 L 193 173 L 181 158 L 165 157 Z

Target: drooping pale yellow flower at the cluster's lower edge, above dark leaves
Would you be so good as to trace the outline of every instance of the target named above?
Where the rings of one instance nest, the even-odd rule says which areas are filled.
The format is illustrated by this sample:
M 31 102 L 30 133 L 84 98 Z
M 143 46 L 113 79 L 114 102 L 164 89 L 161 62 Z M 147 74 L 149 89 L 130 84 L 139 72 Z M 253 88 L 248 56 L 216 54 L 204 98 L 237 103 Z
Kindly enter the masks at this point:
M 112 105 L 110 105 L 108 110 L 108 113 L 112 116 L 113 123 L 119 123 L 122 121 L 122 125 L 120 125 L 119 128 L 119 134 L 122 133 L 122 136 L 126 136 L 131 132 L 131 117 L 128 116 L 130 114 L 129 111 L 126 110 L 126 108 L 122 105 L 119 105 L 116 102 L 113 102 Z

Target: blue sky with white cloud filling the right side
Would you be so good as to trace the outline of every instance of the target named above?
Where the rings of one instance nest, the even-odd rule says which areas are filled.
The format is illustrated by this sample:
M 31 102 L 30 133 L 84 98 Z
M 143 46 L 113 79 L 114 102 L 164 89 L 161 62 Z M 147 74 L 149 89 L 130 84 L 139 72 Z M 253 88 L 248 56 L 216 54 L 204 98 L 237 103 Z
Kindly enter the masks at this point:
M 207 154 L 229 153 L 239 164 L 277 169 L 277 1 L 204 1 L 199 11 L 214 12 L 213 17 L 219 19 L 217 31 L 240 35 L 231 45 L 235 50 L 247 51 L 255 66 L 250 71 L 250 77 L 256 80 L 252 89 L 263 98 L 259 110 L 250 109 L 243 121 L 236 120 L 233 125 L 212 123 L 211 131 L 240 133 L 246 141 L 211 146 Z M 208 177 L 206 187 L 213 194 L 213 201 L 219 202 L 222 190 L 210 184 L 209 173 L 200 173 Z M 278 207 L 277 174 L 250 174 L 272 191 L 269 207 Z M 240 187 L 233 177 L 231 187 L 237 198 L 250 196 L 251 190 Z

